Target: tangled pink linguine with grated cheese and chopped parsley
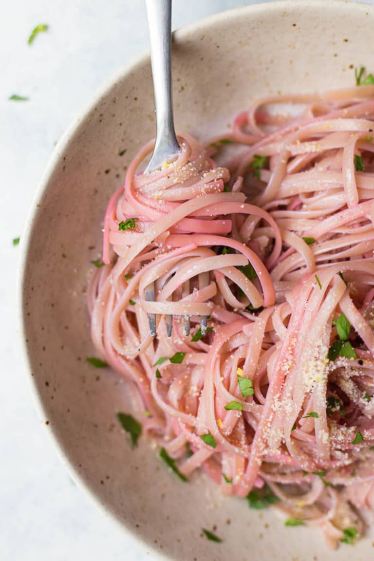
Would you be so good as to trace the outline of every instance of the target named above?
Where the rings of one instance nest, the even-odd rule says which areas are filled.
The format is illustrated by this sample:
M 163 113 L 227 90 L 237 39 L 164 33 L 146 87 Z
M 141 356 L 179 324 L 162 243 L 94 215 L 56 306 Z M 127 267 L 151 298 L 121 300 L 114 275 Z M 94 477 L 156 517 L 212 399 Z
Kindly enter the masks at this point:
M 141 173 L 149 142 L 110 199 L 89 289 L 96 350 L 179 473 L 271 496 L 333 546 L 374 507 L 373 131 L 363 85 L 260 100 Z

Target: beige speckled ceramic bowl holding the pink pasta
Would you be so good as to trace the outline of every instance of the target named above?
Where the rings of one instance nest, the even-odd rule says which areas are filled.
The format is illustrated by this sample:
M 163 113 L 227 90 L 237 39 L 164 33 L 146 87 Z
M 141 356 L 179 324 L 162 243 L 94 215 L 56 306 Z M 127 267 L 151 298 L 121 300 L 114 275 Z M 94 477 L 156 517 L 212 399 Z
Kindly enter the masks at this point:
M 373 6 L 292 0 L 220 13 L 177 31 L 177 130 L 204 137 L 207 128 L 227 127 L 255 96 L 352 85 L 354 65 L 373 70 L 373 30 Z M 143 54 L 73 123 L 39 187 L 22 237 L 20 298 L 24 353 L 42 419 L 79 485 L 155 557 L 367 558 L 369 537 L 333 553 L 317 530 L 285 528 L 276 512 L 250 511 L 245 500 L 224 498 L 203 475 L 179 481 L 148 443 L 131 451 L 115 419 L 126 410 L 126 385 L 86 363 L 94 350 L 85 291 L 89 261 L 101 250 L 105 205 L 154 132 Z M 216 528 L 223 542 L 208 541 L 202 527 Z

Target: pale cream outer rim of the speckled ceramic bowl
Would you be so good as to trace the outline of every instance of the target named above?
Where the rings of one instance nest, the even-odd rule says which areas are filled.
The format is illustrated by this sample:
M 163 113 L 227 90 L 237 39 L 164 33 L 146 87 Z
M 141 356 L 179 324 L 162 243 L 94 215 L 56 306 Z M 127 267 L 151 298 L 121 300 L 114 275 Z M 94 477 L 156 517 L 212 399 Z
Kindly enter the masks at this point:
M 239 6 L 236 8 L 230 8 L 229 10 L 220 11 L 213 13 L 203 19 L 199 19 L 191 22 L 183 27 L 178 28 L 173 31 L 173 40 L 177 39 L 178 42 L 185 41 L 188 39 L 190 33 L 195 33 L 200 28 L 205 29 L 206 27 L 214 27 L 221 21 L 228 18 L 238 17 L 241 14 L 248 13 L 261 13 L 261 12 L 279 12 L 289 10 L 295 7 L 298 8 L 310 8 L 314 10 L 320 10 L 322 8 L 339 7 L 344 4 L 345 10 L 357 10 L 358 8 L 365 8 L 367 11 L 371 11 L 374 16 L 374 4 L 367 3 L 364 1 L 359 2 L 347 2 L 346 0 L 270 0 L 267 2 L 249 4 L 247 6 Z M 357 6 L 357 7 L 356 7 Z M 41 394 L 38 389 L 38 384 L 34 375 L 31 373 L 31 361 L 29 346 L 26 343 L 26 325 L 25 325 L 25 299 L 24 299 L 24 285 L 26 280 L 26 266 L 29 256 L 30 248 L 30 238 L 31 232 L 38 221 L 39 215 L 39 201 L 43 198 L 45 192 L 48 190 L 48 185 L 50 178 L 54 172 L 54 169 L 59 164 L 64 150 L 66 150 L 72 137 L 79 131 L 79 128 L 84 126 L 84 122 L 89 116 L 90 112 L 93 111 L 95 106 L 100 102 L 102 98 L 108 95 L 109 91 L 113 88 L 116 83 L 132 72 L 136 72 L 139 66 L 142 66 L 147 60 L 149 60 L 149 49 L 144 49 L 140 53 L 132 56 L 124 65 L 120 66 L 111 73 L 96 90 L 93 95 L 90 96 L 89 102 L 85 103 L 79 111 L 77 111 L 75 117 L 73 117 L 70 125 L 67 126 L 66 130 L 63 132 L 61 139 L 58 141 L 56 148 L 53 150 L 50 158 L 48 160 L 47 167 L 41 176 L 41 179 L 36 188 L 35 195 L 31 202 L 29 212 L 27 214 L 27 219 L 21 234 L 20 241 L 20 258 L 17 267 L 17 327 L 19 333 L 19 348 L 21 352 L 20 364 L 23 365 L 23 369 L 26 373 L 29 387 L 31 389 L 31 394 L 33 396 L 34 407 L 39 416 L 39 419 L 45 419 L 47 412 L 43 406 L 43 401 L 41 399 Z M 43 423 L 44 426 L 44 423 Z M 47 427 L 45 427 L 47 430 Z M 77 487 L 83 491 L 83 494 L 89 499 L 91 504 L 95 504 L 96 507 L 105 515 L 109 521 L 114 522 L 116 526 L 124 532 L 126 537 L 130 538 L 132 543 L 137 546 L 142 551 L 145 551 L 151 555 L 155 561 L 175 561 L 174 558 L 170 557 L 167 553 L 161 553 L 155 548 L 153 542 L 148 540 L 146 537 L 141 537 L 138 532 L 133 530 L 126 522 L 121 521 L 116 513 L 112 512 L 105 504 L 102 502 L 89 487 L 85 481 L 85 477 L 81 475 L 79 470 L 73 465 L 68 457 L 67 452 L 64 449 L 62 439 L 56 434 L 53 423 L 48 425 L 47 434 L 49 434 L 49 439 L 53 443 L 54 450 L 56 450 L 57 455 L 62 462 L 63 466 L 66 468 L 72 480 L 76 483 Z

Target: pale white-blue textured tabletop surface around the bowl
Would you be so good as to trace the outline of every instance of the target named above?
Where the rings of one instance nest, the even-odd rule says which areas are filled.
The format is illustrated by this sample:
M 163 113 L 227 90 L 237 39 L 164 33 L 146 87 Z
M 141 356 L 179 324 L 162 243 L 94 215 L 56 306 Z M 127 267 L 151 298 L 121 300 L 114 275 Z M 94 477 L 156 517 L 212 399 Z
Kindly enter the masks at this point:
M 248 3 L 174 0 L 173 28 Z M 146 47 L 144 4 L 0 0 L 0 7 L 0 559 L 145 561 L 150 555 L 73 484 L 36 416 L 17 347 L 12 246 L 54 143 L 95 89 Z M 31 29 L 44 22 L 48 33 L 29 47 Z M 13 93 L 30 100 L 8 101 Z

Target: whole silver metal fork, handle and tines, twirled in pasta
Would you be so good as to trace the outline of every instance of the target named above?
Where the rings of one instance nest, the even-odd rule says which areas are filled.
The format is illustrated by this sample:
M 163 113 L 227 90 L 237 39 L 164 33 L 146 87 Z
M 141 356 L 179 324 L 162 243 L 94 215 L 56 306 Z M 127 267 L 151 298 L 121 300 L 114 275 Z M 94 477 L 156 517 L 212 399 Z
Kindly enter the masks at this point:
M 173 160 L 181 150 L 173 120 L 172 73 L 171 73 L 171 27 L 172 0 L 146 0 L 148 34 L 151 52 L 153 91 L 156 108 L 156 142 L 152 157 L 145 171 L 157 169 L 165 161 Z M 206 275 L 199 275 L 199 288 L 206 286 Z M 208 279 L 209 282 L 209 279 Z M 182 296 L 190 293 L 190 283 L 184 283 Z M 155 285 L 149 284 L 145 289 L 145 298 L 155 300 Z M 148 314 L 152 337 L 156 337 L 156 315 Z M 167 334 L 172 335 L 173 316 L 166 316 Z M 201 334 L 205 335 L 207 316 L 201 317 Z M 190 333 L 190 318 L 183 318 L 184 334 Z

